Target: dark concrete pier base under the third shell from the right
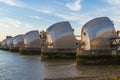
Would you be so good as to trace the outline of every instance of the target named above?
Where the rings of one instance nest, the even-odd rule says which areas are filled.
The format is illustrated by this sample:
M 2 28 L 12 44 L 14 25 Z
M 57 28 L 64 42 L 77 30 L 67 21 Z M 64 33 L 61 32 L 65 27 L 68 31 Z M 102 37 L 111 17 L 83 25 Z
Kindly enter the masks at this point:
M 37 48 L 20 48 L 21 55 L 40 55 L 41 49 Z

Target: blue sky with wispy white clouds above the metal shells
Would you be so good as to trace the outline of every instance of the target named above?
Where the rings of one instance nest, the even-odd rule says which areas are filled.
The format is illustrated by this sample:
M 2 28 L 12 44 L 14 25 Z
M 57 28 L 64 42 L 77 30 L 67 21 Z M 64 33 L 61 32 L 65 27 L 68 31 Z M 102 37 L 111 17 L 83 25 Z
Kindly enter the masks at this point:
M 0 0 L 0 40 L 31 30 L 46 30 L 69 21 L 80 35 L 82 26 L 96 17 L 109 17 L 120 30 L 119 0 Z

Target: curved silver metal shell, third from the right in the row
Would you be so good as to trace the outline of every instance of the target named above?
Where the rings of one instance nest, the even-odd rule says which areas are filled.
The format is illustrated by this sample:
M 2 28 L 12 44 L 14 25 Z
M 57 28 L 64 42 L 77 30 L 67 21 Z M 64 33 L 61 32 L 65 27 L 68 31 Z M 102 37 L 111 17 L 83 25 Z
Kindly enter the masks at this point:
M 24 35 L 24 42 L 27 48 L 41 48 L 42 40 L 38 30 L 30 31 Z

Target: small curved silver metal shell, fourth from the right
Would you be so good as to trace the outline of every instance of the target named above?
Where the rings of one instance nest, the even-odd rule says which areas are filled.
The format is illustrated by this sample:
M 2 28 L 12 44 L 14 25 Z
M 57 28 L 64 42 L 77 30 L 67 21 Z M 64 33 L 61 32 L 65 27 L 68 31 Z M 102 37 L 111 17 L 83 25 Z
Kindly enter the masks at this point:
M 15 36 L 13 40 L 14 47 L 24 47 L 24 37 L 23 35 Z

